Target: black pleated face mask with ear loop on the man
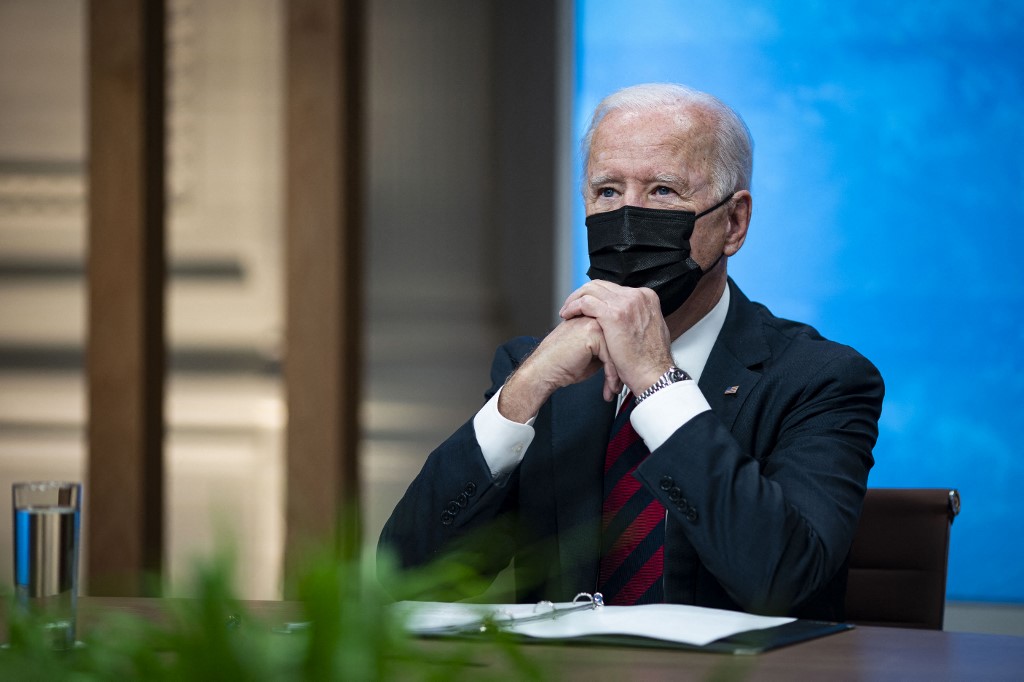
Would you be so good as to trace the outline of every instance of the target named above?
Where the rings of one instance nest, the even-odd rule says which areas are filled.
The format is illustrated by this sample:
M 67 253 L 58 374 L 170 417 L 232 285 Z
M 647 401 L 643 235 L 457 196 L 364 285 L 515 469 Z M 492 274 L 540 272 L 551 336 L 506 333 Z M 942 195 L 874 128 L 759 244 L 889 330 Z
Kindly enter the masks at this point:
M 591 280 L 604 280 L 624 287 L 653 289 L 668 316 L 689 298 L 707 270 L 690 258 L 690 237 L 697 218 L 721 208 L 728 197 L 710 209 L 668 211 L 623 206 L 614 211 L 587 216 Z

